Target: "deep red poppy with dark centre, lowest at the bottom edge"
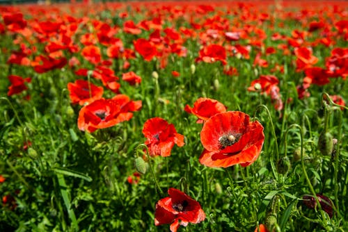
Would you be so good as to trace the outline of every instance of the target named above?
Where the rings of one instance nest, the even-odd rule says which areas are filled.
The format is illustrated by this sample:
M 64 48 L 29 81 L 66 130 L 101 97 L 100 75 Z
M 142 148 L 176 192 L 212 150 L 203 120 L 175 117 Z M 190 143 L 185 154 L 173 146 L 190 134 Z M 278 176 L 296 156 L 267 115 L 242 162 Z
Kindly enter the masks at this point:
M 205 220 L 205 213 L 198 201 L 184 192 L 169 188 L 169 197 L 157 201 L 155 225 L 171 224 L 171 232 L 176 232 L 179 226 L 187 226 L 189 222 L 198 224 Z

